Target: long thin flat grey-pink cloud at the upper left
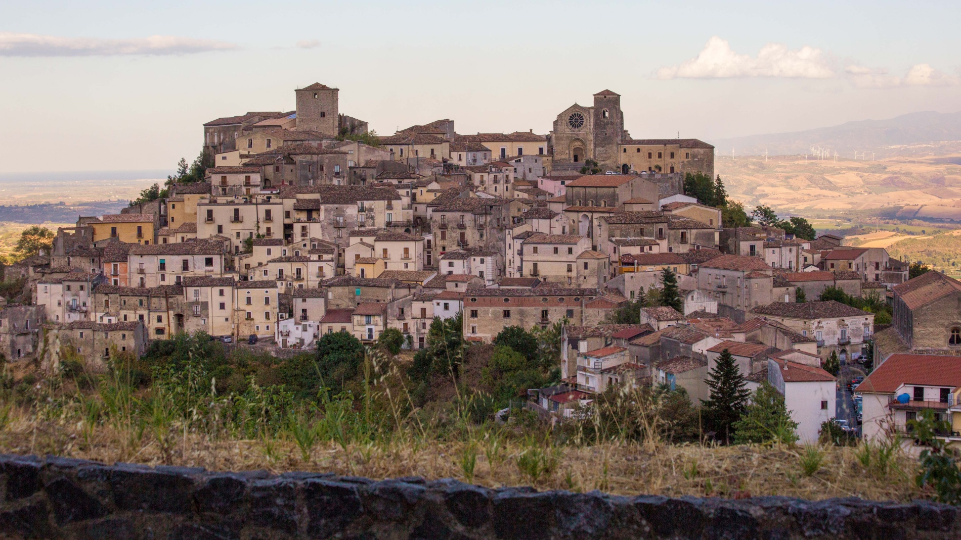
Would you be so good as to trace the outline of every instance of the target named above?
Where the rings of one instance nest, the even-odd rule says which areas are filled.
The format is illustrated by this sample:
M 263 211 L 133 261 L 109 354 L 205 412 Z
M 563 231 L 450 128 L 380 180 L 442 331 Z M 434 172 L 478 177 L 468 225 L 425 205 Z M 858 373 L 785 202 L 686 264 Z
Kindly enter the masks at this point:
M 0 32 L 0 57 L 107 57 L 121 55 L 189 55 L 236 49 L 234 43 L 176 35 L 133 39 L 58 37 Z

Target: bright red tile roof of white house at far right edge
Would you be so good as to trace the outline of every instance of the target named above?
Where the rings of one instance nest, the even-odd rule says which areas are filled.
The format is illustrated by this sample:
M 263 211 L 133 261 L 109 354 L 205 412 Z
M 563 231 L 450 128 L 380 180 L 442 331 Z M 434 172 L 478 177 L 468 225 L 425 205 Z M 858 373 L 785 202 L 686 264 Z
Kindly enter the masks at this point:
M 857 391 L 890 394 L 901 385 L 961 387 L 961 357 L 895 353 L 875 367 Z

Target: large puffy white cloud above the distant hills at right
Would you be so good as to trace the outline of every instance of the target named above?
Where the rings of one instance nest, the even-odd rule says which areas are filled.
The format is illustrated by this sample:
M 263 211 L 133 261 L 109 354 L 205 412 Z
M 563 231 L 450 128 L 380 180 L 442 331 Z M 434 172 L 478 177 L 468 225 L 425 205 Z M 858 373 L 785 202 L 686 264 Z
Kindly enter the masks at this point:
M 768 43 L 752 58 L 738 55 L 726 39 L 717 35 L 707 40 L 697 57 L 657 70 L 657 78 L 662 80 L 748 77 L 829 79 L 834 71 L 821 49 L 804 46 L 792 51 L 783 43 Z

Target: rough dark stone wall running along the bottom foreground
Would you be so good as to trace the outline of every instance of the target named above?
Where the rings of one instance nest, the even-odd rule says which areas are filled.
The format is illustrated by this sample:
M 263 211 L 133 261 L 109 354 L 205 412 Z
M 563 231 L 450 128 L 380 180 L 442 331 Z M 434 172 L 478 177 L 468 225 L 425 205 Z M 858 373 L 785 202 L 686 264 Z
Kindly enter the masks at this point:
M 0 486 L 3 538 L 961 538 L 958 508 L 927 502 L 616 497 L 2 455 Z

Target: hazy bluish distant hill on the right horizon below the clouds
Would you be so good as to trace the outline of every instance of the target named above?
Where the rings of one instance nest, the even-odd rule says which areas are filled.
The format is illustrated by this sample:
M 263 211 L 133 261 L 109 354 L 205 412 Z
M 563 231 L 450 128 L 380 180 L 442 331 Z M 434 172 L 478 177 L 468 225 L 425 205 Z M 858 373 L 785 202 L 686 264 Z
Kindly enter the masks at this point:
M 925 110 L 888 120 L 861 120 L 830 128 L 791 133 L 767 133 L 708 141 L 720 155 L 794 155 L 826 148 L 833 155 L 875 152 L 875 158 L 914 154 L 910 147 L 928 142 L 961 141 L 961 112 Z

